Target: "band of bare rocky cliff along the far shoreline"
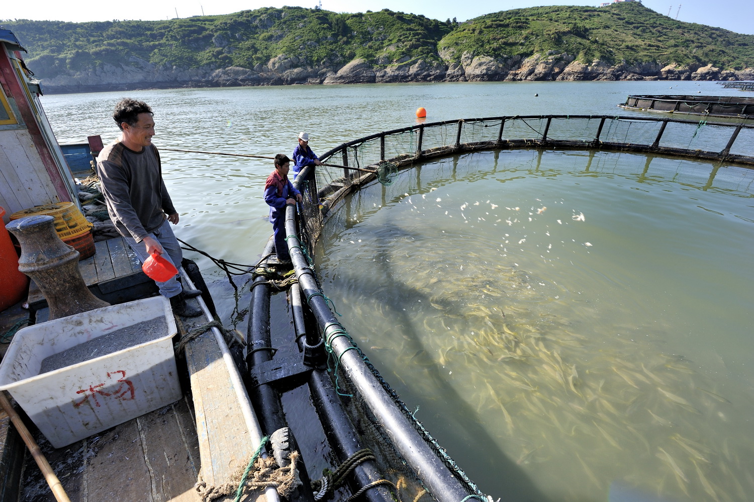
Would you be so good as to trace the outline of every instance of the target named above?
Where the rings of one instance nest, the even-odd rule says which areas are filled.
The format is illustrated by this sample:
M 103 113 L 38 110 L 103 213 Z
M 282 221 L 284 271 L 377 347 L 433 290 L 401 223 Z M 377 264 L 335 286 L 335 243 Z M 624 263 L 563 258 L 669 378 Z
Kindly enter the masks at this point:
M 533 54 L 530 57 L 490 57 L 463 54 L 455 63 L 440 54 L 442 63 L 399 60 L 387 64 L 354 59 L 345 66 L 324 62 L 302 66 L 296 57 L 278 56 L 253 69 L 229 66 L 180 68 L 155 66 L 132 57 L 128 63 L 104 64 L 93 70 L 66 72 L 42 79 L 47 93 L 127 91 L 145 88 L 235 87 L 247 85 L 318 85 L 391 82 L 518 82 L 584 80 L 752 80 L 754 69 L 721 70 L 712 65 L 661 67 L 657 63 L 609 64 L 600 60 L 580 63 L 570 54 Z M 33 68 L 32 68 L 33 70 Z

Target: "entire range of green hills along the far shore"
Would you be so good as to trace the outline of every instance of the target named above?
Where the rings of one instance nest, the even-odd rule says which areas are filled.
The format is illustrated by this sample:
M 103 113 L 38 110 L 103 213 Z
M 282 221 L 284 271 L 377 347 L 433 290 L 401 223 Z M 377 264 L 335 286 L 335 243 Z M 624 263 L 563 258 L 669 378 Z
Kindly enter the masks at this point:
M 660 68 L 676 64 L 690 71 L 706 65 L 721 71 L 754 67 L 754 35 L 683 23 L 639 2 L 513 9 L 460 24 L 388 9 L 337 14 L 284 7 L 160 21 L 2 20 L 0 25 L 11 29 L 29 51 L 27 66 L 43 83 L 69 88 L 96 87 L 98 82 L 118 88 L 118 79 L 124 88 L 150 82 L 322 83 L 325 75 L 335 75 L 356 59 L 372 67 L 376 82 L 464 80 L 464 65 L 474 57 L 510 66 L 538 54 L 565 54 L 568 61 L 587 65 L 599 60 Z M 415 63 L 429 72 L 409 68 Z M 283 75 L 296 68 L 305 69 L 298 80 L 269 73 Z M 403 73 L 395 74 L 396 68 L 403 68 Z M 229 69 L 233 75 L 242 69 L 248 73 L 238 80 L 227 77 Z M 176 76 L 179 70 L 190 70 L 192 76 Z M 221 79 L 225 84 L 212 80 L 219 78 L 210 76 L 216 70 L 227 77 Z M 143 74 L 143 79 L 135 74 Z M 368 82 L 370 75 L 358 82 Z M 555 74 L 530 78 L 554 79 Z M 492 72 L 484 79 L 513 77 Z

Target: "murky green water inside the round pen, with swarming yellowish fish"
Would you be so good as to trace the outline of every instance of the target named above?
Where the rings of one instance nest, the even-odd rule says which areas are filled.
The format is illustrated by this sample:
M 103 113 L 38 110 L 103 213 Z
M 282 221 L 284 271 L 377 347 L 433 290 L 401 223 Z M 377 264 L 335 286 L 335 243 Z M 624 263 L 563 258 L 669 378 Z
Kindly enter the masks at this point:
M 318 270 L 472 479 L 503 500 L 748 500 L 751 170 L 514 151 L 417 179 L 351 197 Z

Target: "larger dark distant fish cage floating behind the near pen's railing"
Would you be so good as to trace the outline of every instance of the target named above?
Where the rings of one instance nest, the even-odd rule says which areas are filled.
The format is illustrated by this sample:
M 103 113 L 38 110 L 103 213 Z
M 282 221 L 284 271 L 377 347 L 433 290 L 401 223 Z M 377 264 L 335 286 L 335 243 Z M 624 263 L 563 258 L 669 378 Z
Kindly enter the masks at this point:
M 619 104 L 644 112 L 688 113 L 707 117 L 754 117 L 754 97 L 740 96 L 629 96 Z

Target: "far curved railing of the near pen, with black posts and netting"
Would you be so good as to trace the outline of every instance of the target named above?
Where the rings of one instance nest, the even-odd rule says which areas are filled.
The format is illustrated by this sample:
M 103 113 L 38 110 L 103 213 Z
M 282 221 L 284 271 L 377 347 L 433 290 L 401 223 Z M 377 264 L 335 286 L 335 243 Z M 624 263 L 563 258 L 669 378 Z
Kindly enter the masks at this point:
M 343 143 L 326 163 L 374 170 L 382 162 L 408 168 L 474 149 L 588 148 L 655 152 L 752 164 L 754 125 L 620 115 L 515 115 L 412 125 Z M 317 186 L 370 180 L 363 171 L 319 167 Z

